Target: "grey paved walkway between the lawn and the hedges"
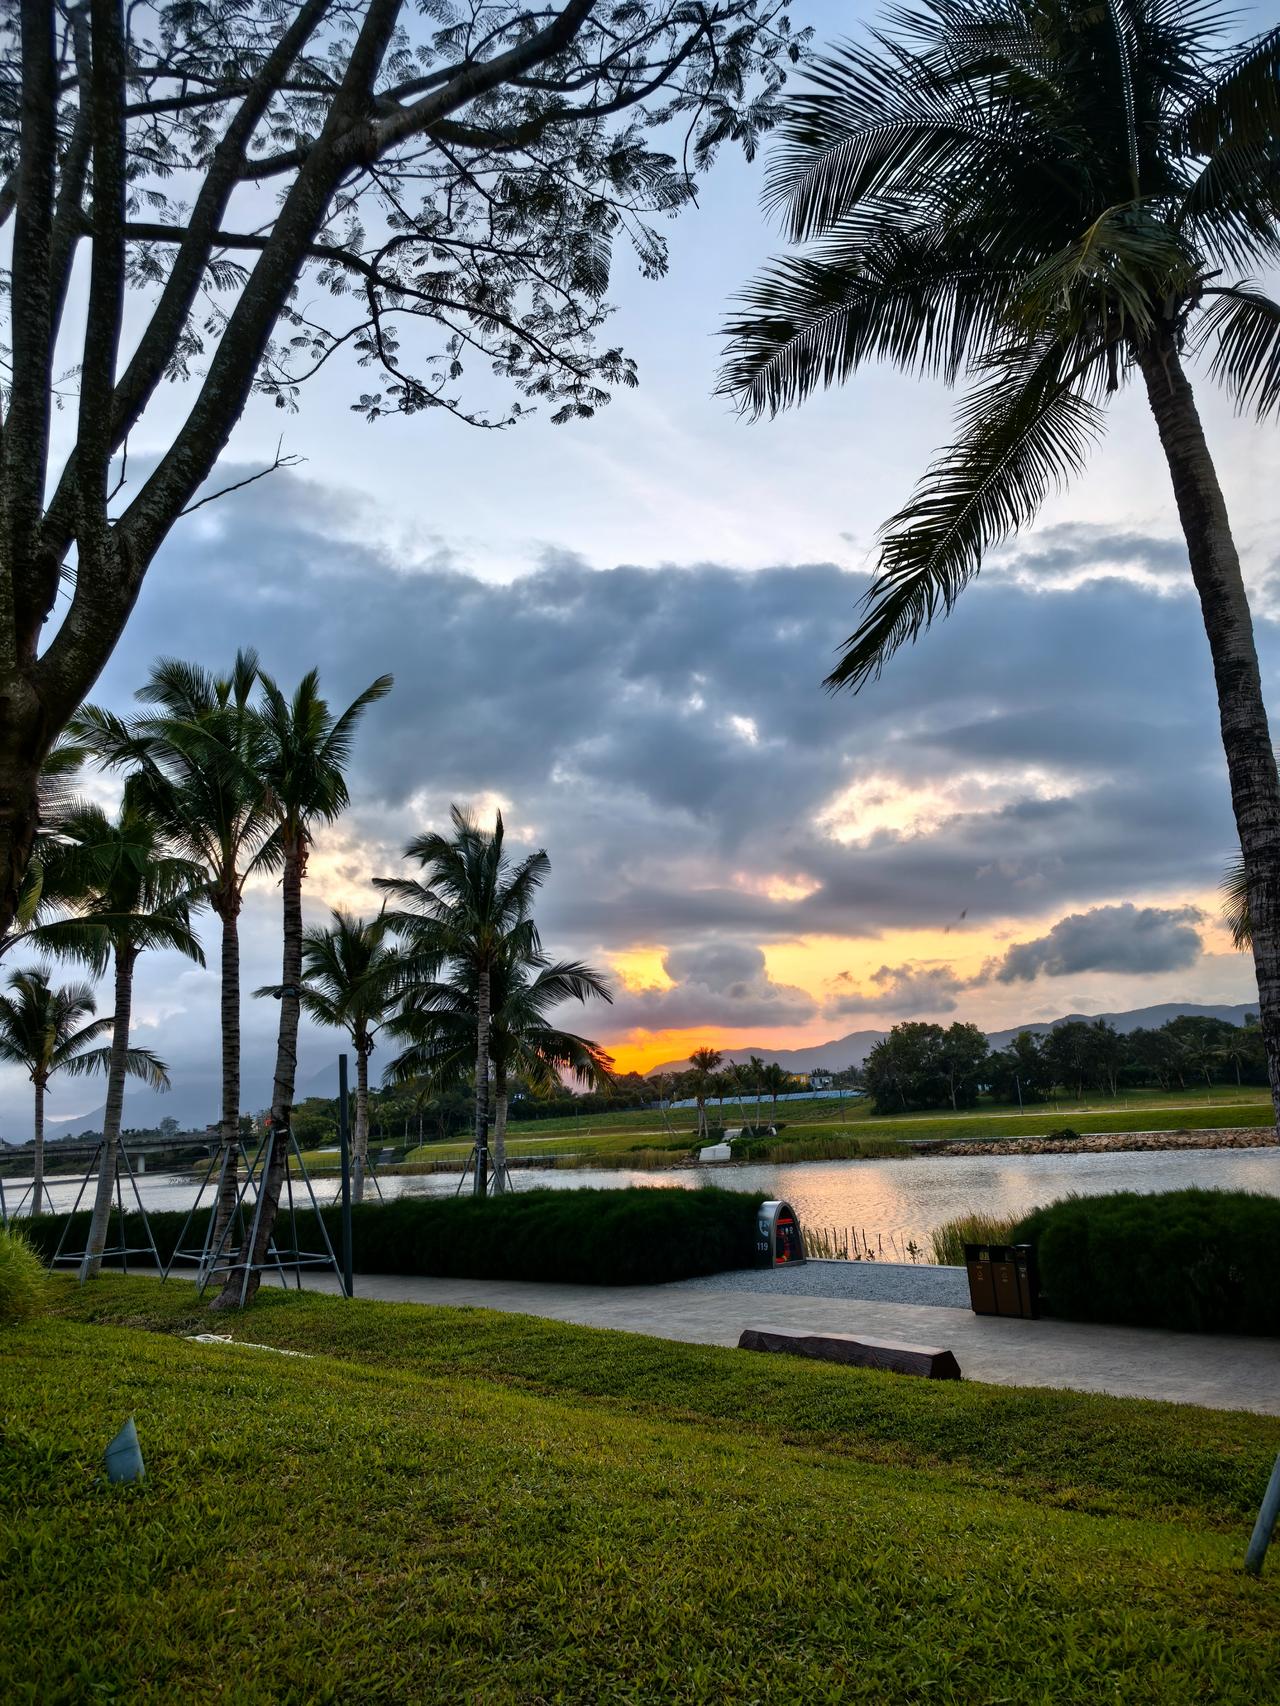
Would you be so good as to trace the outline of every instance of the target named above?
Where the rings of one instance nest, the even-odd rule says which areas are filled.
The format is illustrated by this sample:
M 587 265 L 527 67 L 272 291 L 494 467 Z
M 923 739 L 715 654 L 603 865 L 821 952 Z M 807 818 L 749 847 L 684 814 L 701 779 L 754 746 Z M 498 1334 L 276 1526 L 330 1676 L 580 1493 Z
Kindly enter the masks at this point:
M 307 1285 L 336 1290 L 333 1274 L 317 1274 Z M 691 1344 L 737 1344 L 742 1327 L 865 1332 L 876 1339 L 905 1339 L 954 1351 L 968 1380 L 1070 1387 L 1280 1416 L 1280 1339 L 1094 1327 L 1068 1320 L 1000 1320 L 916 1303 L 717 1290 L 713 1280 L 587 1286 L 357 1274 L 355 1293 L 391 1303 L 544 1315 Z

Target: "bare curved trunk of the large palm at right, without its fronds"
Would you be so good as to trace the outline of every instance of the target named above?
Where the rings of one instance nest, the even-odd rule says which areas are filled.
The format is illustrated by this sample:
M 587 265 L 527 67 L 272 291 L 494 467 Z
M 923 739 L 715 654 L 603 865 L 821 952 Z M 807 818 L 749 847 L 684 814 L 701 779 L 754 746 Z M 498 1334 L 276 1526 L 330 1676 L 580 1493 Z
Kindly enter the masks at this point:
M 1227 505 L 1172 334 L 1138 351 L 1200 594 L 1231 804 L 1249 879 L 1253 964 L 1271 1105 L 1280 1124 L 1280 776 L 1266 723 L 1253 618 Z

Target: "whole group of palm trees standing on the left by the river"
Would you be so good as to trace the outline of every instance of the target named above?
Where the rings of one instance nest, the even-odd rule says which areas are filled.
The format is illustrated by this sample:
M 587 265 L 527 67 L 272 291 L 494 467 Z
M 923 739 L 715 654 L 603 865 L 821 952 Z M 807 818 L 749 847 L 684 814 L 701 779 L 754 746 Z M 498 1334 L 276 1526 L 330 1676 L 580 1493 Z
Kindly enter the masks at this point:
M 239 920 L 246 884 L 276 875 L 282 894 L 280 981 L 254 991 L 278 1003 L 276 1058 L 258 1179 L 254 1245 L 236 1252 L 253 1295 L 270 1249 L 288 1158 L 302 1013 L 350 1037 L 355 1063 L 353 1189 L 364 1194 L 369 1155 L 369 1059 L 386 1032 L 396 1051 L 384 1078 L 418 1099 L 469 1094 L 478 1152 L 476 1191 L 502 1189 L 503 1134 L 514 1082 L 560 1088 L 561 1075 L 587 1087 L 609 1082 L 597 1042 L 553 1024 L 567 1001 L 609 1000 L 601 972 L 553 960 L 541 943 L 534 901 L 550 870 L 543 850 L 512 860 L 503 824 L 485 827 L 461 807 L 449 833 L 415 838 L 404 858 L 415 877 L 379 877 L 372 918 L 335 909 L 304 925 L 307 862 L 321 826 L 348 805 L 346 773 L 360 718 L 391 691 L 381 676 L 335 713 L 314 670 L 292 694 L 253 652 L 225 674 L 172 659 L 138 689 L 143 706 L 119 717 L 85 705 L 49 766 L 34 856 L 24 875 L 15 930 L 3 949 L 34 949 L 41 962 L 9 976 L 0 996 L 0 1058 L 22 1065 L 34 1085 L 32 1211 L 43 1206 L 43 1105 L 56 1071 L 101 1071 L 108 1099 L 94 1213 L 82 1273 L 97 1271 L 106 1245 L 119 1155 L 125 1082 L 166 1088 L 164 1061 L 130 1041 L 133 978 L 142 952 L 174 949 L 205 964 L 193 918 L 208 908 L 220 930 L 220 1167 L 215 1244 L 234 1223 L 241 1191 Z M 82 764 L 123 776 L 114 815 L 75 795 Z M 114 1010 L 94 1017 L 89 984 L 58 984 L 53 960 L 109 972 Z M 108 1036 L 109 1044 L 99 1044 Z M 492 1082 L 492 1092 L 490 1092 Z M 229 1232 L 229 1237 L 234 1237 Z M 222 1298 L 232 1297 L 230 1278 Z

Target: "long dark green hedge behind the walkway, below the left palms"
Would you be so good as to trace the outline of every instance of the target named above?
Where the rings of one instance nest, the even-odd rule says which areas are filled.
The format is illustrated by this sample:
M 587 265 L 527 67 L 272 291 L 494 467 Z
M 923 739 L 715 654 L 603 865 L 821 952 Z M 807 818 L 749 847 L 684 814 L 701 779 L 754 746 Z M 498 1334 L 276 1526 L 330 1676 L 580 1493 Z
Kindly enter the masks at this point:
M 401 1196 L 352 1208 L 352 1257 L 357 1273 L 655 1285 L 749 1268 L 758 1206 L 754 1194 L 712 1187 L 519 1191 L 488 1201 Z M 333 1204 L 321 1213 L 338 1249 L 341 1211 Z M 150 1216 L 164 1261 L 184 1220 L 184 1213 Z M 41 1215 L 24 1225 L 48 1259 L 63 1216 Z M 205 1225 L 201 1211 L 188 1233 L 188 1247 L 200 1245 Z M 84 1249 L 87 1232 L 89 1215 L 77 1215 L 67 1249 Z M 143 1242 L 137 1216 L 128 1218 L 128 1232 L 130 1245 Z M 290 1235 L 282 1230 L 280 1237 L 287 1242 Z M 309 1210 L 299 1211 L 299 1242 L 304 1249 L 321 1247 Z

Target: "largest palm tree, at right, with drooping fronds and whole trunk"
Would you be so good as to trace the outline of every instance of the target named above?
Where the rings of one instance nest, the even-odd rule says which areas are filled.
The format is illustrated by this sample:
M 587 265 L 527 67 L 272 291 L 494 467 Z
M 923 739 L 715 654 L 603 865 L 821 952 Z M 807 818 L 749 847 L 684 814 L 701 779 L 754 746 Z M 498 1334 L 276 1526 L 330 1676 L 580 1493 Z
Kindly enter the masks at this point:
M 724 387 L 753 413 L 887 360 L 966 375 L 956 440 L 886 525 L 828 682 L 951 611 L 1140 382 L 1213 659 L 1280 1111 L 1280 780 L 1227 507 L 1183 358 L 1280 408 L 1280 29 L 1224 49 L 1212 0 L 923 0 L 792 96 L 768 179 L 806 251 L 748 290 Z

